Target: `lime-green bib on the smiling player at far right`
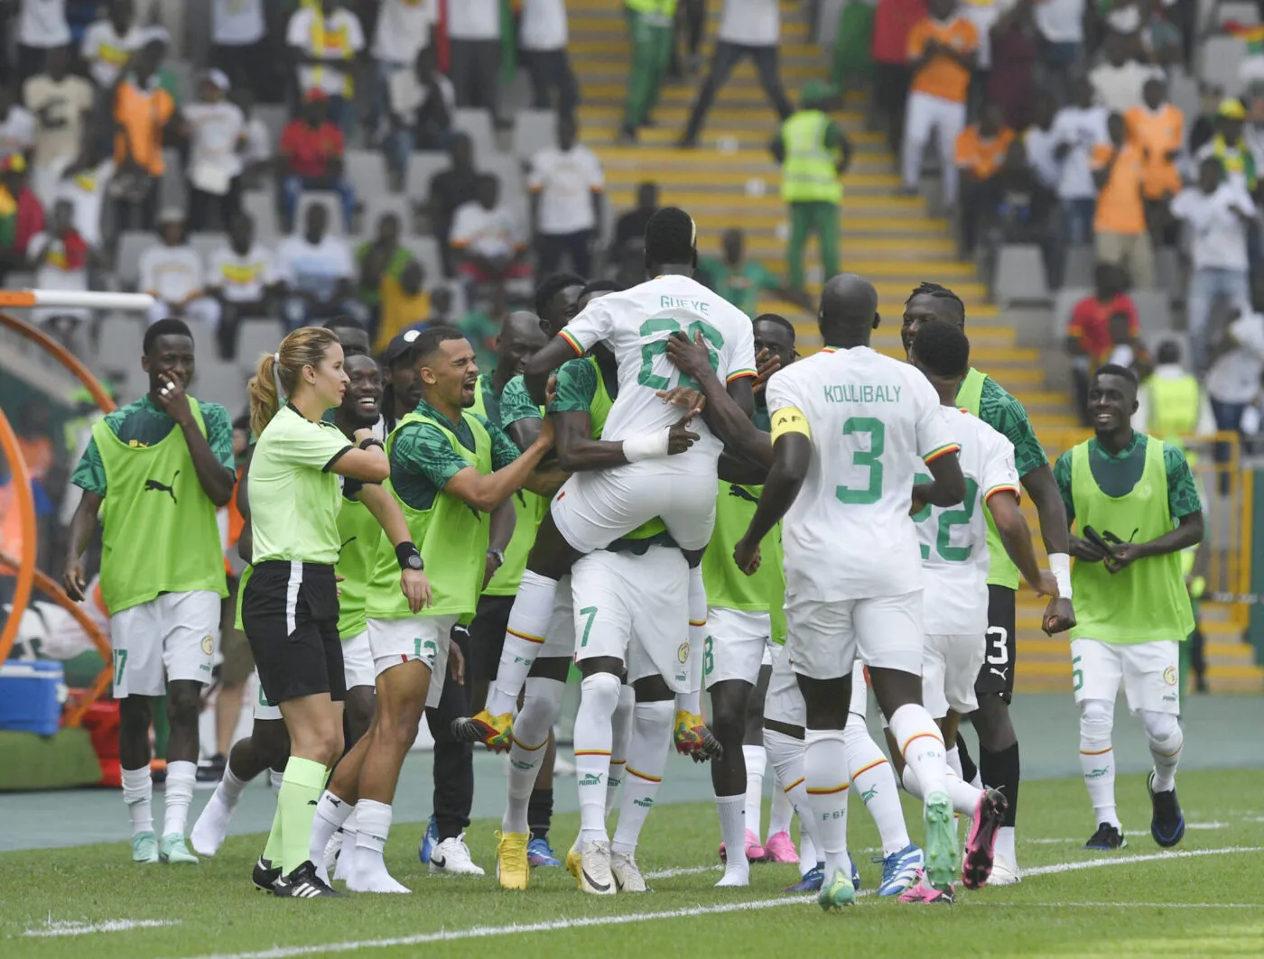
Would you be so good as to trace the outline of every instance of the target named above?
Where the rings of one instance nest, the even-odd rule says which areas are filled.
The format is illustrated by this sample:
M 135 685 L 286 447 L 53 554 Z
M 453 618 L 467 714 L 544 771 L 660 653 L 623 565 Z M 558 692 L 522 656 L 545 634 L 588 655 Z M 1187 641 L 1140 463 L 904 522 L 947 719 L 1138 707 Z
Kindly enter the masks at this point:
M 1125 497 L 1107 497 L 1093 479 L 1088 441 L 1071 451 L 1071 495 L 1076 524 L 1107 531 L 1120 540 L 1146 542 L 1176 527 L 1168 509 L 1168 474 L 1163 441 L 1148 436 L 1145 469 Z M 1135 531 L 1135 532 L 1134 532 Z M 1072 639 L 1103 643 L 1149 643 L 1184 639 L 1193 632 L 1181 553 L 1138 560 L 1119 572 L 1105 564 L 1076 560 L 1071 566 L 1076 594 Z M 1173 686 L 1176 681 L 1173 679 Z

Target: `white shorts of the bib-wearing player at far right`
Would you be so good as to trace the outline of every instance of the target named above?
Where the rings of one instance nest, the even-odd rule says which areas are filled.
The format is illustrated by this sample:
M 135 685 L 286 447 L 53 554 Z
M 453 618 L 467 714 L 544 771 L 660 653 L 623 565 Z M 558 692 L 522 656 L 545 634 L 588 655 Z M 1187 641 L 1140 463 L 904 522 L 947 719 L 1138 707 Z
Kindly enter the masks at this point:
M 1176 639 L 1153 643 L 1102 643 L 1071 641 L 1071 677 L 1076 703 L 1102 699 L 1114 703 L 1124 684 L 1134 715 L 1181 711 L 1181 646 Z

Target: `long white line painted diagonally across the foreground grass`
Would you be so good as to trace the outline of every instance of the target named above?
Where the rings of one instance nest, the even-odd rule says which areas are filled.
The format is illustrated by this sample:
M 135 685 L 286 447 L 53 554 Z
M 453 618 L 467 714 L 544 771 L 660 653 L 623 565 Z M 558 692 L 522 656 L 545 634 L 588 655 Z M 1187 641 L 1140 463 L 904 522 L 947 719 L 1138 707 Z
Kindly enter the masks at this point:
M 1106 859 L 1087 859 L 1076 863 L 1054 863 L 1053 866 L 1036 866 L 1024 869 L 1024 876 L 1048 876 L 1053 873 L 1076 872 L 1078 869 L 1096 869 L 1105 866 L 1127 866 L 1130 863 L 1154 862 L 1159 859 L 1188 859 L 1203 855 L 1229 855 L 1234 853 L 1259 853 L 1264 847 L 1236 845 L 1226 849 L 1189 849 L 1186 852 L 1154 853 L 1146 855 L 1120 855 Z M 713 866 L 689 867 L 689 872 L 714 872 Z M 686 869 L 664 869 L 662 873 L 681 876 Z M 657 873 L 646 873 L 647 878 Z M 857 897 L 865 896 L 865 890 Z M 664 910 L 661 912 L 631 912 L 623 916 L 578 916 L 574 919 L 555 919 L 547 922 L 517 924 L 506 926 L 474 926 L 471 929 L 440 930 L 437 932 L 418 932 L 411 936 L 398 936 L 394 939 L 360 939 L 345 943 L 325 943 L 317 945 L 274 946 L 255 953 L 212 953 L 197 956 L 197 959 L 292 959 L 301 955 L 321 955 L 324 953 L 355 953 L 360 949 L 386 949 L 398 945 L 426 945 L 428 943 L 450 943 L 460 939 L 485 939 L 488 936 L 517 935 L 522 932 L 556 932 L 564 929 L 586 929 L 593 926 L 623 926 L 633 922 L 652 922 L 660 919 L 688 919 L 694 916 L 714 916 L 726 912 L 752 912 L 780 906 L 803 906 L 811 902 L 810 896 L 781 896 L 775 900 L 752 900 L 750 902 L 726 902 L 719 906 L 693 906 L 689 908 Z M 991 906 L 995 903 L 977 903 L 975 908 Z M 1006 906 L 1024 906 L 1023 902 L 1005 902 Z M 1107 905 L 1107 903 L 1098 903 Z M 1130 905 L 1130 903 L 1127 903 Z M 1168 903 L 1150 903 L 1167 906 Z

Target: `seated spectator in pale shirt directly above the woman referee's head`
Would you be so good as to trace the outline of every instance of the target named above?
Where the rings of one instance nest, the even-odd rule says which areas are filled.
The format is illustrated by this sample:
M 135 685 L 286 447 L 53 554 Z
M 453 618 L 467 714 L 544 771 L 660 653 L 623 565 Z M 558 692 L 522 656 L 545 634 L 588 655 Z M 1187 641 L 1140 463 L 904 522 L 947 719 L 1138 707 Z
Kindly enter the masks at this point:
M 310 205 L 302 232 L 281 241 L 277 273 L 286 284 L 283 313 L 291 330 L 337 313 L 356 318 L 364 313 L 355 302 L 351 248 L 329 232 L 329 207 L 324 203 Z

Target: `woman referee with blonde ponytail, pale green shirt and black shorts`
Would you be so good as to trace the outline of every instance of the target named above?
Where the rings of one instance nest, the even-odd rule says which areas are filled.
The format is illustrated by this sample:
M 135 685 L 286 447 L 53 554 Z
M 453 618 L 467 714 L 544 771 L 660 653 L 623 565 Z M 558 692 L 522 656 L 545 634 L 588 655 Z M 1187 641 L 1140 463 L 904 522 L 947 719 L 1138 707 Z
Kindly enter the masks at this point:
M 343 648 L 334 562 L 343 490 L 337 476 L 382 483 L 391 474 L 382 442 L 356 430 L 354 443 L 321 422 L 346 390 L 343 347 L 330 330 L 305 327 L 259 360 L 250 380 L 254 572 L 241 604 L 263 692 L 279 704 L 289 761 L 277 800 L 272 849 L 281 850 L 277 896 L 336 896 L 308 860 L 312 816 L 327 771 L 343 754 Z M 336 474 L 336 475 L 335 475 Z M 411 542 L 401 566 L 421 569 Z M 417 574 L 420 575 L 420 572 Z M 274 840 L 274 841 L 273 841 Z M 259 863 L 255 869 L 274 867 Z

